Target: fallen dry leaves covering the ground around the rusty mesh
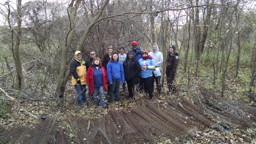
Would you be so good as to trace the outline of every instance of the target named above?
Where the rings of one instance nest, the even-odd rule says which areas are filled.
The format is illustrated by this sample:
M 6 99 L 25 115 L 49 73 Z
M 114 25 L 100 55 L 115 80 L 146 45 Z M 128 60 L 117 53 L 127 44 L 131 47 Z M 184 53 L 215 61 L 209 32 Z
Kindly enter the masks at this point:
M 179 100 L 181 97 L 186 98 L 187 100 L 193 102 L 194 98 L 197 97 L 199 92 L 198 87 L 204 86 L 209 87 L 209 89 L 214 89 L 214 92 L 220 93 L 220 85 L 212 86 L 212 79 L 209 76 L 194 76 L 190 78 L 190 83 L 188 86 L 188 81 L 185 78 L 187 75 L 179 74 L 175 84 L 178 87 L 178 92 L 174 95 L 171 95 L 165 83 L 163 84 L 162 89 L 162 98 L 159 98 L 158 94 L 154 93 L 154 101 L 162 105 L 163 103 L 170 100 Z M 217 79 L 218 80 L 218 79 Z M 233 74 L 227 75 L 226 80 L 227 86 L 224 98 L 228 100 L 234 101 L 244 101 L 247 102 L 248 105 L 254 105 L 253 101 L 247 98 L 247 96 L 243 93 L 241 87 L 246 87 L 247 83 L 241 81 L 241 77 L 234 78 Z M 189 89 L 187 88 L 189 87 Z M 85 105 L 79 107 L 76 105 L 74 96 L 75 90 L 73 85 L 68 83 L 66 88 L 65 99 L 59 101 L 54 97 L 54 91 L 51 88 L 51 85 L 47 86 L 47 90 L 45 91 L 44 96 L 40 96 L 39 94 L 34 94 L 34 97 L 28 97 L 27 94 L 20 94 L 21 96 L 17 96 L 18 92 L 15 90 L 6 90 L 5 92 L 9 94 L 11 97 L 15 98 L 18 102 L 14 102 L 12 100 L 6 100 L 7 113 L 6 117 L 0 119 L 1 126 L 8 129 L 9 127 L 15 125 L 27 125 L 33 127 L 38 121 L 35 117 L 26 113 L 27 110 L 29 113 L 35 115 L 38 118 L 47 118 L 47 117 L 55 117 L 58 114 L 57 121 L 62 121 L 63 125 L 65 125 L 65 120 L 67 116 L 81 116 L 86 119 L 99 119 L 102 116 L 107 116 L 110 110 L 129 110 L 136 105 L 141 105 L 140 102 L 134 102 L 131 99 L 127 99 L 127 91 L 123 92 L 121 90 L 121 99 L 122 103 L 108 103 L 109 108 L 103 109 L 100 106 L 93 106 L 93 100 L 87 99 Z M 212 90 L 213 91 L 213 90 Z M 29 90 L 27 90 L 29 93 Z M 242 93 L 242 94 L 241 94 Z M 143 102 L 147 102 L 148 99 L 144 96 L 141 97 Z M 237 125 L 236 129 L 232 129 L 230 131 L 221 132 L 213 128 L 206 128 L 203 131 L 191 130 L 191 132 L 184 133 L 189 135 L 189 140 L 185 143 L 256 143 L 256 129 L 255 124 L 251 127 L 243 127 Z M 182 137 L 177 137 L 173 139 L 167 139 L 164 137 L 159 138 L 158 143 L 175 143 L 175 141 L 181 139 Z

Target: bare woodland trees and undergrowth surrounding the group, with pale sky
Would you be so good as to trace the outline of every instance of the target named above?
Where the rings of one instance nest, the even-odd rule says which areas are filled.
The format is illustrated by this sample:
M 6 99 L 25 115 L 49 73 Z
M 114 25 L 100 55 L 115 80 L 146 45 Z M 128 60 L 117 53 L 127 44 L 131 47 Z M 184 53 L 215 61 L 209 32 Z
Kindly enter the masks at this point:
M 157 43 L 164 59 L 169 45 L 176 46 L 180 63 L 175 84 L 183 97 L 193 99 L 203 86 L 254 105 L 254 96 L 248 97 L 255 92 L 254 1 L 8 0 L 0 7 L 3 121 L 10 118 L 10 100 L 58 104 L 73 97 L 69 64 L 75 51 L 85 60 L 91 50 L 103 58 L 108 45 L 116 51 L 123 45 L 128 52 L 132 41 L 149 51 Z M 162 68 L 163 73 L 165 62 Z M 164 73 L 162 83 L 167 94 Z

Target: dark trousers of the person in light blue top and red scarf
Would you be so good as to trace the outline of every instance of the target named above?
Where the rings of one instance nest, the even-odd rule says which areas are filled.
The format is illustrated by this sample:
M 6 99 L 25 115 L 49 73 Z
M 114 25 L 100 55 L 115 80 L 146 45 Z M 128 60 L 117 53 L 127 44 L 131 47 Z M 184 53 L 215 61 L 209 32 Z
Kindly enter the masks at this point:
M 152 83 L 152 79 L 153 76 L 147 77 L 147 78 L 143 78 L 141 76 L 139 76 L 140 79 L 140 91 L 142 92 L 143 90 L 149 94 L 149 97 L 152 98 L 152 89 L 151 89 L 151 83 Z

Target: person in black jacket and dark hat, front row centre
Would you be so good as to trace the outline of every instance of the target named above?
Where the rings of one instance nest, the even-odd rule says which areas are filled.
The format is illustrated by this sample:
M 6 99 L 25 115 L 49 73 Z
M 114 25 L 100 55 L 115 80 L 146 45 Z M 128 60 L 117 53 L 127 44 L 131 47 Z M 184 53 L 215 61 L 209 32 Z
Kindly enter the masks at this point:
M 127 83 L 129 98 L 133 98 L 134 87 L 139 84 L 140 63 L 135 59 L 134 55 L 133 51 L 129 51 L 123 62 L 124 78 Z

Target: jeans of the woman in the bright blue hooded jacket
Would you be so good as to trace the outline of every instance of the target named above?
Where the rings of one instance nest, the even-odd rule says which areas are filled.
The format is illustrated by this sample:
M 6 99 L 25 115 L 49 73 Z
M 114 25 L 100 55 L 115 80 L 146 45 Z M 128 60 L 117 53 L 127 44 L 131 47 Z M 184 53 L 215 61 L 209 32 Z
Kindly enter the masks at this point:
M 121 81 L 115 81 L 112 79 L 112 84 L 110 84 L 110 91 L 109 91 L 109 102 L 114 101 L 114 92 L 115 92 L 115 100 L 120 101 L 120 93 L 119 93 L 119 86 Z

